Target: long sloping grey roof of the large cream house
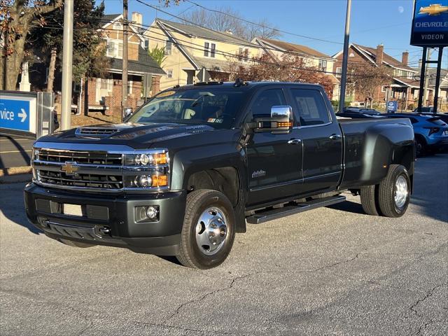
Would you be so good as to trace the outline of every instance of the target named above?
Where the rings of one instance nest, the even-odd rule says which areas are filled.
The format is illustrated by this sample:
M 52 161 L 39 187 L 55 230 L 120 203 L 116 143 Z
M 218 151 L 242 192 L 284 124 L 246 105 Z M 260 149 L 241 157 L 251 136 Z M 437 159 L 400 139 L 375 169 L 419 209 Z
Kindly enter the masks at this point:
M 258 48 L 258 45 L 255 45 L 251 42 L 244 40 L 243 38 L 239 38 L 237 36 L 233 36 L 232 34 L 225 33 L 223 31 L 215 31 L 208 28 L 195 26 L 195 25 L 185 25 L 183 23 L 164 20 L 164 19 L 156 19 L 156 22 L 160 22 L 165 26 L 172 27 L 173 29 L 179 31 L 181 34 L 186 34 L 190 36 L 197 36 L 202 38 L 208 38 L 214 41 L 223 41 L 227 43 L 233 43 L 237 45 L 247 45 Z

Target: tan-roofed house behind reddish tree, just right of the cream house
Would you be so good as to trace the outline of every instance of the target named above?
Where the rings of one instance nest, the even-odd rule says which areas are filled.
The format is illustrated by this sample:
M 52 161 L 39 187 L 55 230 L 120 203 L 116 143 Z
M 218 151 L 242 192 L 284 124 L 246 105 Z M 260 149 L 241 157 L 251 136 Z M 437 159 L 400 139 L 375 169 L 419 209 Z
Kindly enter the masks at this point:
M 294 44 L 286 41 L 273 40 L 271 38 L 254 38 L 253 43 L 260 45 L 263 52 L 267 53 L 273 59 L 280 60 L 283 55 L 292 54 L 302 57 L 304 64 L 326 72 L 326 76 L 333 84 L 333 90 L 330 92 L 330 99 L 339 96 L 339 79 L 333 74 L 335 59 L 323 52 L 309 48 L 306 45 Z

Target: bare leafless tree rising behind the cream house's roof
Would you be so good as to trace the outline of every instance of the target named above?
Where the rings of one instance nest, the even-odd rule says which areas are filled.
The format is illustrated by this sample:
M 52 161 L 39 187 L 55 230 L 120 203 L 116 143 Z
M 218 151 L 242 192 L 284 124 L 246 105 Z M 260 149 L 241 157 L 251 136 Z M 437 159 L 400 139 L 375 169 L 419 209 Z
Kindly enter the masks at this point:
M 217 8 L 216 11 L 209 11 L 204 8 L 193 10 L 181 15 L 181 18 L 195 25 L 209 28 L 216 31 L 228 31 L 233 35 L 251 41 L 255 37 L 276 38 L 281 34 L 272 27 L 266 19 L 258 22 L 248 23 L 242 20 L 241 15 L 230 7 Z

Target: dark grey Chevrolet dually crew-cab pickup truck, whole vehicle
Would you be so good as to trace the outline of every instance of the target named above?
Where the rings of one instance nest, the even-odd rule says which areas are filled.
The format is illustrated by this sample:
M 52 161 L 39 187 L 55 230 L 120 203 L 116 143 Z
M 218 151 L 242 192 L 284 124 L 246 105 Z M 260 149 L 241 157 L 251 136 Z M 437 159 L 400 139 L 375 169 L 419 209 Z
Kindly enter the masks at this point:
M 409 119 L 337 120 L 319 85 L 207 82 L 160 92 L 118 125 L 36 141 L 29 221 L 71 246 L 121 246 L 220 265 L 235 232 L 360 195 L 405 213 Z

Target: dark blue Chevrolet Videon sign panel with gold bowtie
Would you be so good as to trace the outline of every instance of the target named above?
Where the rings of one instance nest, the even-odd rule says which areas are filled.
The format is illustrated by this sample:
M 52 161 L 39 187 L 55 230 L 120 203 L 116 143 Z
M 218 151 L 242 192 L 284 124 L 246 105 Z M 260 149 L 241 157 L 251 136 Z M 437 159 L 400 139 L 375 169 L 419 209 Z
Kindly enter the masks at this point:
M 415 0 L 411 45 L 448 45 L 448 0 Z

